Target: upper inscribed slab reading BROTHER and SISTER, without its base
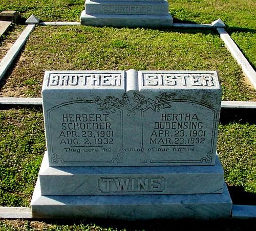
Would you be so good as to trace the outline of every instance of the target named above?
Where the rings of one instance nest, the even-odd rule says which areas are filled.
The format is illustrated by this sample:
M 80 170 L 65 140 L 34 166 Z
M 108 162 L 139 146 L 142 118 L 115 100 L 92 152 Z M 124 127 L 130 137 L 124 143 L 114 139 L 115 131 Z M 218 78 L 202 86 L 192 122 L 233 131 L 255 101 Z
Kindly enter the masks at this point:
M 46 72 L 50 166 L 214 165 L 216 72 Z

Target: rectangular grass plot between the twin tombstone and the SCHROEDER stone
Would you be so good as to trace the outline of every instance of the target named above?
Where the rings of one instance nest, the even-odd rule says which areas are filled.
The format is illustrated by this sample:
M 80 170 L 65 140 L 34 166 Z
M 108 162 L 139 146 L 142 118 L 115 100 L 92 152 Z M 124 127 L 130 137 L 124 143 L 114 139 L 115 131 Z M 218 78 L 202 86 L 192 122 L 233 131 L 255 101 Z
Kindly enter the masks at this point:
M 37 27 L 1 97 L 40 97 L 47 70 L 218 71 L 223 100 L 256 99 L 217 32 L 87 26 Z

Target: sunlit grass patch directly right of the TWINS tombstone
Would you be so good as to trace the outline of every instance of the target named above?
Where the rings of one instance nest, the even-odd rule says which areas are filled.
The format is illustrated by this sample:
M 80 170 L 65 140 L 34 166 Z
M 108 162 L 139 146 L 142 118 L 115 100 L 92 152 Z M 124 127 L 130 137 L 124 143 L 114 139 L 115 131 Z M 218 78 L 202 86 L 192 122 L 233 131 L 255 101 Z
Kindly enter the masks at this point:
M 218 154 L 230 186 L 256 193 L 256 124 L 219 126 Z

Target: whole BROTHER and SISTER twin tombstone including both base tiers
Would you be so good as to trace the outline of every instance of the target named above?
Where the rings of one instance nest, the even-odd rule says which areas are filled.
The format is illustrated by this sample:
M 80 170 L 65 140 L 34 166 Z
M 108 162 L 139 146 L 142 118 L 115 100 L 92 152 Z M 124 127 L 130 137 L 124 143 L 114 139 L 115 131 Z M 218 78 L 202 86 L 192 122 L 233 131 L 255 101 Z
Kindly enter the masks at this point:
M 224 218 L 211 71 L 52 71 L 33 217 Z

